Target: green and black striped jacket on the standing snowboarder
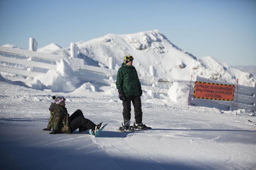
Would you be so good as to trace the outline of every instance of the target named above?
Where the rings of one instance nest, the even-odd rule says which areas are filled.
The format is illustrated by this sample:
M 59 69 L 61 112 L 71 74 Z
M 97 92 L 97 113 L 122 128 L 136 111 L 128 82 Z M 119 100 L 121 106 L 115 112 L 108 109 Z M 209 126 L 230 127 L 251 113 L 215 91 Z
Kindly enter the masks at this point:
M 118 69 L 116 75 L 116 88 L 122 89 L 125 96 L 140 95 L 140 80 L 135 67 L 128 66 L 125 63 Z

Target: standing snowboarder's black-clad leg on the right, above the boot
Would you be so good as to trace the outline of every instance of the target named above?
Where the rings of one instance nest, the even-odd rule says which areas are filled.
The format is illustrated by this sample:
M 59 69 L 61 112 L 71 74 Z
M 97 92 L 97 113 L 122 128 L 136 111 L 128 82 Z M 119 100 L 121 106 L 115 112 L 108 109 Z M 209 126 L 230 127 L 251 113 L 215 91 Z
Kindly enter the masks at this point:
M 142 109 L 140 96 L 132 96 L 132 104 L 134 107 L 134 119 L 135 123 L 139 124 L 142 122 Z

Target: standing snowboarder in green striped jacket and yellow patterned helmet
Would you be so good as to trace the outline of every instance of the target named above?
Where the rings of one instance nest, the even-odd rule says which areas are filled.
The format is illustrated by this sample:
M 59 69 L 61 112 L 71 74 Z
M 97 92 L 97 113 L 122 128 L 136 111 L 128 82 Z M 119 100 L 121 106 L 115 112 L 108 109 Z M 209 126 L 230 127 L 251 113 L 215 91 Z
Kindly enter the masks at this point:
M 142 110 L 141 100 L 142 95 L 140 80 L 135 67 L 132 66 L 133 57 L 132 55 L 124 56 L 124 63 L 122 67 L 118 69 L 116 75 L 116 88 L 118 89 L 119 99 L 123 101 L 123 117 L 124 125 L 123 128 L 130 129 L 131 120 L 131 101 L 134 107 L 134 118 L 133 123 L 134 129 L 147 129 L 147 126 L 142 123 Z

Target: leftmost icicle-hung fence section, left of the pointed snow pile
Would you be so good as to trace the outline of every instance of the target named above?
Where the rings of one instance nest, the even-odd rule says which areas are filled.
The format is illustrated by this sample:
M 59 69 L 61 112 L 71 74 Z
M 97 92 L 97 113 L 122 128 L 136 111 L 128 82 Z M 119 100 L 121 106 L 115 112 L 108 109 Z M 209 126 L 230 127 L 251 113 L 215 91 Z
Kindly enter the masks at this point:
M 0 71 L 36 77 L 55 69 L 60 56 L 0 46 Z M 19 69 L 19 70 L 17 70 Z

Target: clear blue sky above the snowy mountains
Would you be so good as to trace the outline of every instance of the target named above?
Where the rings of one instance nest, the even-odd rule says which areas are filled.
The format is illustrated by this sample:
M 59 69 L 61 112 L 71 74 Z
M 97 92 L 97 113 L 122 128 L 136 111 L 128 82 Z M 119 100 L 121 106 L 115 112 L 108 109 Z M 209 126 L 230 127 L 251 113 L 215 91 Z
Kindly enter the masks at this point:
M 197 58 L 256 65 L 255 0 L 0 0 L 0 45 L 69 47 L 108 33 L 158 29 Z

